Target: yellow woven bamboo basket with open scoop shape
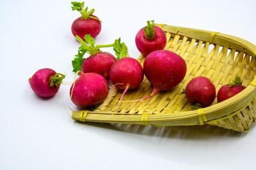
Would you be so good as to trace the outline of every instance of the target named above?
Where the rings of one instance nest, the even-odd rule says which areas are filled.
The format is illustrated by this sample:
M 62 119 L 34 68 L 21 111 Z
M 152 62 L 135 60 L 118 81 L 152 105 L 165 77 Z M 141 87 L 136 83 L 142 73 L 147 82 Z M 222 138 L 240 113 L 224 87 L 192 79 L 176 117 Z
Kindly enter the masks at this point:
M 222 33 L 186 27 L 156 24 L 166 33 L 165 50 L 179 54 L 187 64 L 186 77 L 169 91 L 161 91 L 141 102 L 122 103 L 117 110 L 115 100 L 122 92 L 116 88 L 93 111 L 73 111 L 72 119 L 105 123 L 129 123 L 152 126 L 216 125 L 247 132 L 256 120 L 256 46 L 241 38 Z M 139 56 L 143 66 L 146 56 Z M 241 93 L 219 104 L 192 111 L 182 93 L 191 79 L 204 76 L 214 83 L 216 91 L 238 75 L 246 86 Z M 138 89 L 127 91 L 123 100 L 147 97 L 152 85 L 144 77 Z

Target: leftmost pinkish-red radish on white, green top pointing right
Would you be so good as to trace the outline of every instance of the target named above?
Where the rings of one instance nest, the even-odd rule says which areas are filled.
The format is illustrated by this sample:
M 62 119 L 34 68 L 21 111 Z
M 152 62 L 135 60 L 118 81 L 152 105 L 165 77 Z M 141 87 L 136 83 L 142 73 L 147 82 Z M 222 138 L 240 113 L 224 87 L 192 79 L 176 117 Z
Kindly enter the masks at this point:
M 40 97 L 53 97 L 58 92 L 64 78 L 65 75 L 61 73 L 56 73 L 50 68 L 43 68 L 29 78 L 29 84 Z

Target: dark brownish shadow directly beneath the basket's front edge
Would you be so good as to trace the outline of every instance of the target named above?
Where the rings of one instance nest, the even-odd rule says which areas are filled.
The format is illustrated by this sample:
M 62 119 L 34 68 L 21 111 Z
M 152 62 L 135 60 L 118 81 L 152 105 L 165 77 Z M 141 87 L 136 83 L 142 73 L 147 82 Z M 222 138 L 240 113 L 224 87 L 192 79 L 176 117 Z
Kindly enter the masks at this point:
M 80 122 L 79 122 L 80 123 Z M 82 125 L 87 125 L 88 122 L 82 122 Z M 154 136 L 160 138 L 184 139 L 184 140 L 205 140 L 209 138 L 218 137 L 244 137 L 250 134 L 250 131 L 245 134 L 243 132 L 236 132 L 221 127 L 212 125 L 195 125 L 195 126 L 176 126 L 176 127 L 153 127 L 143 125 L 126 125 L 118 123 L 95 123 L 92 122 L 89 126 L 105 128 L 112 131 Z M 253 126 L 254 127 L 254 126 Z M 252 127 L 252 128 L 253 128 Z

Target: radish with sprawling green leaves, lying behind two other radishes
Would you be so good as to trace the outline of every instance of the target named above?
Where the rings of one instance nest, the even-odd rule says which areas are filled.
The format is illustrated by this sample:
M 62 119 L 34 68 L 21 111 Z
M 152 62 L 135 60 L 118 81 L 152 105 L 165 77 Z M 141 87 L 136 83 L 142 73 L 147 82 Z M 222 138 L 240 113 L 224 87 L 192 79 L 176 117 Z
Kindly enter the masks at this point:
M 95 42 L 90 35 L 85 35 L 85 42 L 76 36 L 77 40 L 82 43 L 79 47 L 78 54 L 76 58 L 72 61 L 72 66 L 74 68 L 73 72 L 82 70 L 83 73 L 99 73 L 106 79 L 109 77 L 109 70 L 113 63 L 115 63 L 116 58 L 109 52 L 102 52 L 99 48 L 101 47 L 114 47 L 116 54 L 118 54 L 118 47 L 124 43 L 120 43 L 120 38 L 115 40 L 115 43 L 108 45 L 95 45 Z M 87 45 L 86 43 L 89 43 Z M 84 54 L 88 52 L 90 57 L 84 59 Z

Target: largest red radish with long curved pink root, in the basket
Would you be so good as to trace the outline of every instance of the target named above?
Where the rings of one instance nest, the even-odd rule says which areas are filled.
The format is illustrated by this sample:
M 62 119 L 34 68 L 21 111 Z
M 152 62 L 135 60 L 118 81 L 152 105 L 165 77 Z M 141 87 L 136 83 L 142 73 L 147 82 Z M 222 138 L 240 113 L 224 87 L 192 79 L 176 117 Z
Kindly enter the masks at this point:
M 166 91 L 177 86 L 185 77 L 186 62 L 169 50 L 155 50 L 148 54 L 143 64 L 144 73 L 153 85 L 152 93 L 145 98 L 123 102 L 138 102 L 153 97 L 158 91 Z

